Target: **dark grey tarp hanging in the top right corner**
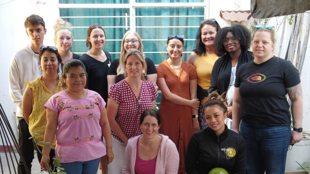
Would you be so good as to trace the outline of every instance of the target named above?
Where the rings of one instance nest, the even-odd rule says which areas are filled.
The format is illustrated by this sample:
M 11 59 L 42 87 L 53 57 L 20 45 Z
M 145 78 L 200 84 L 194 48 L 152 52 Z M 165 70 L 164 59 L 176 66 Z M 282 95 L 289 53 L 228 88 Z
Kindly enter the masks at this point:
M 256 19 L 292 15 L 310 10 L 310 0 L 251 0 L 251 15 Z

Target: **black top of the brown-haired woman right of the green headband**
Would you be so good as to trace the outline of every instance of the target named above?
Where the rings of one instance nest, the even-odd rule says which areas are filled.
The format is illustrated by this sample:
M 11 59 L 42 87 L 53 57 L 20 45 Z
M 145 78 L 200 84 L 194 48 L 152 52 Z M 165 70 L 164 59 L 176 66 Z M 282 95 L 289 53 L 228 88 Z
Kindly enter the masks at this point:
M 111 55 L 104 51 L 107 56 L 107 60 L 101 62 L 97 59 L 92 58 L 88 54 L 83 54 L 79 60 L 81 60 L 86 69 L 87 82 L 85 89 L 93 90 L 100 94 L 105 102 L 108 101 L 108 64 L 111 60 Z

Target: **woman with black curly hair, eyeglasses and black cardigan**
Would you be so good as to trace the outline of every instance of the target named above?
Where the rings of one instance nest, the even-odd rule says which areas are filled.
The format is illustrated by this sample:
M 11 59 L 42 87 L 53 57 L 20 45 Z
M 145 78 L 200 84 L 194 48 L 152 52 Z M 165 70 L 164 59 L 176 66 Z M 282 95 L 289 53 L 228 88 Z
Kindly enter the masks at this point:
M 219 94 L 227 92 L 223 97 L 227 99 L 227 117 L 230 119 L 236 74 L 242 64 L 253 60 L 253 53 L 248 51 L 250 44 L 250 31 L 242 25 L 224 27 L 215 37 L 216 54 L 223 56 L 213 66 L 208 92 L 209 94 L 213 91 Z M 231 129 L 230 124 L 228 128 Z

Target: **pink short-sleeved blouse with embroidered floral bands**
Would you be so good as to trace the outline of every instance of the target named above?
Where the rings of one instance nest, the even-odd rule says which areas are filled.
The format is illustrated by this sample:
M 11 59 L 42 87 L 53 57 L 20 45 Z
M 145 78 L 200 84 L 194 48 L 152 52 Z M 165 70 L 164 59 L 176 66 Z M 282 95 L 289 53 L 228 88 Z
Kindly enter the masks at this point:
M 61 163 L 89 161 L 106 154 L 101 141 L 101 96 L 87 89 L 85 98 L 72 99 L 65 90 L 54 94 L 44 107 L 59 113 L 55 155 Z

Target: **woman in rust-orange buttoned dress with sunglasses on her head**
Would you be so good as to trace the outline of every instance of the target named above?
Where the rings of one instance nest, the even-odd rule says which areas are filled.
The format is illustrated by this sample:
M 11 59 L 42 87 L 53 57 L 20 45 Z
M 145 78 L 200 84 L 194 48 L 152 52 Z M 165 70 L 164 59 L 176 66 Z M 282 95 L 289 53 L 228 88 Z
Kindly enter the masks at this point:
M 167 41 L 167 55 L 157 67 L 157 85 L 162 91 L 159 115 L 162 127 L 159 133 L 167 135 L 176 145 L 180 166 L 178 173 L 185 173 L 185 154 L 188 142 L 199 125 L 197 114 L 197 72 L 193 65 L 181 59 L 184 36 L 170 34 Z M 195 127 L 195 131 L 199 126 Z

